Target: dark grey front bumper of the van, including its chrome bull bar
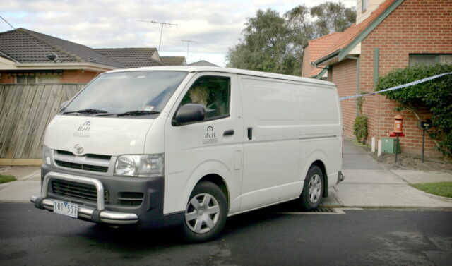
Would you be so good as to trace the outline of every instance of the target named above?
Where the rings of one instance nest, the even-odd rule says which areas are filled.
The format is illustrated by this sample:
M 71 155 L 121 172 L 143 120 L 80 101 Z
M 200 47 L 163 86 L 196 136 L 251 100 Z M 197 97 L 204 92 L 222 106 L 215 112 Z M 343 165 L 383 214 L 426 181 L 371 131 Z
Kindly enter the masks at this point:
M 93 196 L 90 200 L 84 200 L 68 194 L 63 195 L 59 191 L 54 191 L 54 182 L 60 184 L 58 186 L 61 186 L 61 183 L 68 183 L 69 186 L 89 186 L 93 190 L 91 192 Z M 35 207 L 53 212 L 55 200 L 71 202 L 78 205 L 77 218 L 88 222 L 158 228 L 178 225 L 184 218 L 184 212 L 163 214 L 163 176 L 153 178 L 100 176 L 43 164 L 41 185 L 41 195 L 32 195 L 30 198 Z M 123 193 L 126 192 L 140 193 L 141 203 L 124 205 Z

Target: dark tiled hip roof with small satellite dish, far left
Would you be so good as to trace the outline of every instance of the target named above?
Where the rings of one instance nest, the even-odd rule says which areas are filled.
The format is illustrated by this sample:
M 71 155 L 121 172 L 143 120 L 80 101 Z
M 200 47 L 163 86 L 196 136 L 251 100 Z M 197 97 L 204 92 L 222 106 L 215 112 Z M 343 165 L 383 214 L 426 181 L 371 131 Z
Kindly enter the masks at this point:
M 0 54 L 0 56 L 14 59 L 19 63 L 52 63 L 47 55 L 54 52 L 61 63 L 89 62 L 115 68 L 125 67 L 85 45 L 23 28 L 1 32 L 0 51 L 6 55 Z

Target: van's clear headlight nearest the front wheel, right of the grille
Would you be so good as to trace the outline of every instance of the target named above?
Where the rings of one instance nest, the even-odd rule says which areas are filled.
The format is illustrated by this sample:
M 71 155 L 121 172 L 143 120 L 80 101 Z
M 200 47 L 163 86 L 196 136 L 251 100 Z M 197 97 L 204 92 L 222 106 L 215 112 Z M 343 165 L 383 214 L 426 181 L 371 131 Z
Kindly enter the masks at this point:
M 119 155 L 114 164 L 117 176 L 163 176 L 163 154 Z

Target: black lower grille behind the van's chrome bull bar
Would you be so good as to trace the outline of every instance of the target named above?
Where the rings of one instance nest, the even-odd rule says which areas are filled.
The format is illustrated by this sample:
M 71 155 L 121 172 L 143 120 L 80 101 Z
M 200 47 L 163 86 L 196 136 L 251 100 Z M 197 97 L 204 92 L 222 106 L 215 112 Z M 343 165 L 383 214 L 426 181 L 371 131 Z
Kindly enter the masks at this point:
M 52 181 L 54 194 L 69 198 L 97 202 L 97 190 L 95 186 L 85 183 L 67 182 L 62 180 Z M 109 191 L 104 192 L 105 203 L 109 202 Z

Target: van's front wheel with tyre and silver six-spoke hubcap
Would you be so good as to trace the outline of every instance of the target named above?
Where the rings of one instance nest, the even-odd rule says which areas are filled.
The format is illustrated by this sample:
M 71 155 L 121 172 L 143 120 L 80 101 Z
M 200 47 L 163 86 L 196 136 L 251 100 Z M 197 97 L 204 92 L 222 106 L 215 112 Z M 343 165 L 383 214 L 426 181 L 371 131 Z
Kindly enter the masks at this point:
M 203 181 L 195 186 L 186 205 L 182 236 L 190 243 L 215 239 L 227 218 L 227 200 L 214 183 Z

